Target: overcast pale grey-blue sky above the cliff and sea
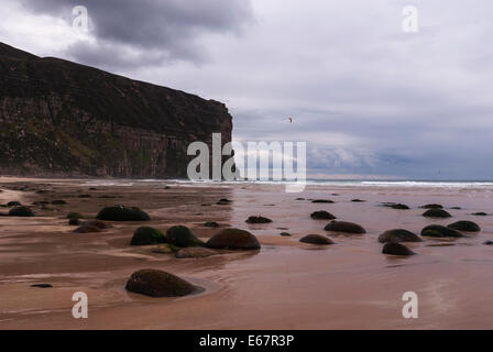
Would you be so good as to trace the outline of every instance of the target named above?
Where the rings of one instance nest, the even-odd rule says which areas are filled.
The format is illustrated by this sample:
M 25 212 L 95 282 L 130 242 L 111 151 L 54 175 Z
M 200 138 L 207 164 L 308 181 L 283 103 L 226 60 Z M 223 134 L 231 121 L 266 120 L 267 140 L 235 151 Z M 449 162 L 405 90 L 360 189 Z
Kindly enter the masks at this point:
M 491 0 L 2 0 L 0 41 L 223 101 L 238 142 L 307 142 L 308 176 L 493 179 L 492 13 Z

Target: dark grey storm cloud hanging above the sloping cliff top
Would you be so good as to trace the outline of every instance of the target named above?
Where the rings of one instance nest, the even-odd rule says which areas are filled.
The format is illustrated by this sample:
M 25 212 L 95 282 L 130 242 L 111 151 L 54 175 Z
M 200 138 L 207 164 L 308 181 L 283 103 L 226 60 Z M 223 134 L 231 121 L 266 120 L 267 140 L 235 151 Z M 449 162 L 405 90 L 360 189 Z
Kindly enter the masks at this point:
M 209 54 L 199 41 L 202 35 L 237 35 L 253 20 L 249 0 L 24 0 L 24 4 L 68 23 L 72 9 L 85 6 L 96 42 L 77 42 L 65 54 L 112 69 L 176 59 L 200 64 Z

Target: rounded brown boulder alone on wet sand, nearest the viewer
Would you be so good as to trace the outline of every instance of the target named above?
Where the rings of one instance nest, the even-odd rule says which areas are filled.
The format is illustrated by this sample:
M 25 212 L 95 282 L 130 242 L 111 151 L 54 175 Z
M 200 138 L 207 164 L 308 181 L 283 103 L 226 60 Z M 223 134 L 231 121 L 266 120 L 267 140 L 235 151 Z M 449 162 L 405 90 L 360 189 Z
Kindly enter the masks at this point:
M 133 273 L 125 289 L 151 297 L 179 297 L 191 294 L 194 286 L 173 274 L 146 268 Z

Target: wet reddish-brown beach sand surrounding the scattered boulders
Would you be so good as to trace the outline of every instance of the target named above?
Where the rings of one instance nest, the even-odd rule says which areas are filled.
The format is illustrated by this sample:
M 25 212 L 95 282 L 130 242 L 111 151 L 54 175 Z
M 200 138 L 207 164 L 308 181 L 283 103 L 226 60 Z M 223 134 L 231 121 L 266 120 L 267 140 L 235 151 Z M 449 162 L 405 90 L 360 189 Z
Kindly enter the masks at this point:
M 169 189 L 165 186 L 169 185 Z M 25 187 L 28 186 L 28 187 Z M 22 189 L 22 188 L 26 189 Z M 188 185 L 97 180 L 0 179 L 0 204 L 64 199 L 67 205 L 34 207 L 35 218 L 0 217 L 0 329 L 492 329 L 493 194 L 485 189 L 308 186 L 286 194 L 278 185 Z M 47 193 L 36 193 L 36 190 Z M 332 194 L 339 194 L 333 196 Z M 79 198 L 90 195 L 90 198 Z M 114 197 L 114 198 L 109 198 Z M 306 200 L 296 200 L 303 197 Z M 220 198 L 232 200 L 219 206 Z M 365 202 L 351 202 L 360 198 Z M 313 204 L 308 199 L 332 199 Z M 381 202 L 403 202 L 395 210 Z M 427 219 L 419 206 L 442 204 L 451 219 Z M 145 210 L 146 226 L 165 231 L 185 224 L 206 240 L 217 221 L 251 231 L 260 252 L 177 260 L 153 253 L 155 246 L 130 246 L 142 223 L 112 223 L 101 233 L 76 234 L 66 215 L 95 217 L 105 206 Z M 460 210 L 449 209 L 461 207 Z M 0 212 L 8 212 L 0 208 Z M 363 235 L 324 231 L 328 221 L 311 220 L 327 210 L 363 226 Z M 246 224 L 262 215 L 269 224 Z M 410 257 L 381 253 L 377 237 L 405 228 L 419 233 L 431 223 L 478 222 L 482 231 L 458 240 L 410 243 Z M 281 237 L 287 231 L 291 238 Z M 299 243 L 309 233 L 336 244 Z M 442 245 L 448 244 L 448 245 Z M 124 290 L 139 268 L 158 268 L 205 288 L 183 298 L 150 298 Z M 32 288 L 32 284 L 53 288 Z M 72 295 L 89 297 L 89 318 L 74 319 Z M 404 319 L 402 296 L 415 292 L 419 318 Z

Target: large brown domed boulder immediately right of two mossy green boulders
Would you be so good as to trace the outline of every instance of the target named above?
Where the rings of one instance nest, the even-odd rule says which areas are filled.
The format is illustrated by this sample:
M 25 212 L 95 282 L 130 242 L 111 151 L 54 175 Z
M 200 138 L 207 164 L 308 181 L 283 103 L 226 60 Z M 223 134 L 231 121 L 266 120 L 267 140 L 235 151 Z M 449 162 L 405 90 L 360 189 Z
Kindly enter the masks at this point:
M 206 246 L 216 250 L 260 250 L 259 240 L 248 231 L 240 229 L 224 229 L 207 241 Z

